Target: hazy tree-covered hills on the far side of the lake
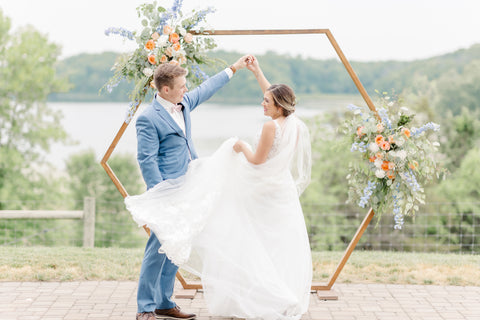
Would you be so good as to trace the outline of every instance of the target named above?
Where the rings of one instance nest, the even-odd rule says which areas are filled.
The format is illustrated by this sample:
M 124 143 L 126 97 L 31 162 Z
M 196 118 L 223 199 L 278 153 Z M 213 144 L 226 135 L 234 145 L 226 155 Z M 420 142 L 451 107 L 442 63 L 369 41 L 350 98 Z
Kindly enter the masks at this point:
M 209 53 L 209 57 L 217 61 L 223 61 L 223 63 L 218 63 L 214 66 L 202 66 L 202 69 L 204 69 L 207 74 L 213 75 L 243 54 L 245 54 L 245 52 L 212 51 Z M 112 94 L 98 95 L 98 88 L 104 83 L 102 81 L 107 81 L 110 76 L 112 76 L 110 68 L 115 61 L 116 54 L 110 52 L 104 53 L 103 55 L 108 57 L 108 61 L 105 61 L 103 67 L 90 68 L 88 74 L 84 72 L 84 70 L 88 68 L 88 60 L 90 60 L 92 65 L 97 63 L 97 61 L 103 61 L 102 54 L 73 56 L 65 60 L 65 62 L 68 60 L 68 63 L 60 64 L 58 69 L 60 74 L 68 75 L 72 79 L 74 74 L 78 74 L 81 79 L 71 80 L 75 83 L 77 89 L 74 88 L 66 94 L 52 96 L 51 99 L 57 101 L 128 101 L 126 93 L 131 91 L 133 87 L 131 84 L 123 81 L 118 87 L 113 89 Z M 472 99 L 473 101 L 477 101 L 475 99 L 480 97 L 480 94 L 472 96 L 472 93 L 475 92 L 475 83 L 477 83 L 476 88 L 478 88 L 478 83 L 480 83 L 479 81 L 475 82 L 475 79 L 477 79 L 479 75 L 477 71 L 478 63 L 475 62 L 476 60 L 480 60 L 478 57 L 480 57 L 480 44 L 443 56 L 412 62 L 350 61 L 350 63 L 367 92 L 372 95 L 375 89 L 379 91 L 392 91 L 392 89 L 395 89 L 398 92 L 403 92 L 408 89 L 411 90 L 413 94 L 428 94 L 431 104 L 436 103 L 440 96 L 445 97 L 445 99 L 448 98 L 449 100 L 442 102 L 442 105 L 450 109 L 462 105 L 471 106 L 472 104 L 469 101 Z M 315 99 L 319 94 L 358 93 L 345 67 L 338 59 L 317 60 L 299 56 L 279 55 L 275 52 L 267 52 L 266 54 L 258 55 L 257 58 L 262 64 L 265 75 L 272 83 L 289 84 L 295 90 L 301 101 Z M 78 65 L 78 70 L 70 72 L 69 70 L 76 69 L 76 65 Z M 465 91 L 449 89 L 447 83 L 448 77 L 441 80 L 449 70 L 452 70 L 451 72 L 459 78 L 468 75 L 471 80 L 455 78 L 456 80 L 461 80 L 459 83 L 464 83 Z M 97 81 L 98 78 L 102 78 L 103 80 Z M 94 82 L 92 81 L 95 81 L 97 84 L 95 89 L 91 88 L 88 91 L 80 90 L 83 84 L 93 84 Z M 445 89 L 449 90 L 445 90 L 445 93 L 438 91 L 437 82 L 439 86 L 445 83 Z M 432 83 L 434 84 L 433 88 L 431 86 Z M 453 81 L 449 83 L 456 84 L 453 83 Z M 441 85 L 441 87 L 442 86 L 443 85 Z M 471 88 L 468 86 L 471 86 Z M 434 89 L 435 92 L 431 92 L 432 89 Z M 470 100 L 465 100 L 465 102 L 460 103 L 463 99 L 459 96 L 463 95 L 464 92 L 468 92 L 471 98 L 468 98 Z M 249 72 L 241 71 L 212 98 L 212 101 L 238 104 L 258 102 L 259 99 L 261 99 L 261 91 L 258 89 L 255 79 Z M 442 109 L 442 111 L 443 110 L 444 109 Z M 460 110 L 460 107 L 458 110 Z

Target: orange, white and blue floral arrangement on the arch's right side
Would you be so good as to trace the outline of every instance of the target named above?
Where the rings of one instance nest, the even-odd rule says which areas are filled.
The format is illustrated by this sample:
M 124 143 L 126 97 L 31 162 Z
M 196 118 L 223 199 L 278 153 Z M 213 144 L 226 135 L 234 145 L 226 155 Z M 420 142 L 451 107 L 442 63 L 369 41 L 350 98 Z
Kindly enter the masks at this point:
M 345 121 L 344 133 L 360 158 L 350 164 L 348 202 L 370 206 L 379 218 L 392 212 L 394 228 L 401 229 L 404 217 L 425 203 L 422 183 L 439 177 L 434 159 L 439 143 L 431 133 L 440 126 L 429 122 L 414 127 L 414 114 L 397 99 L 383 92 L 380 100 L 378 113 L 348 106 L 353 117 Z

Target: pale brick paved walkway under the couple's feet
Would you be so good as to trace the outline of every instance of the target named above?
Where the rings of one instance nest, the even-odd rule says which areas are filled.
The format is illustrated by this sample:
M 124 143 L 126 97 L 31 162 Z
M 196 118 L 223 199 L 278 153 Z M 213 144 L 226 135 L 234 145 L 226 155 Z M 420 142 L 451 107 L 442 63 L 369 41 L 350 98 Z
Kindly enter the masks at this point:
M 312 293 L 302 320 L 480 319 L 480 287 L 336 284 L 334 289 L 335 301 Z M 134 320 L 136 291 L 133 281 L 0 282 L 0 319 Z M 201 292 L 176 301 L 197 320 L 230 319 L 209 315 Z

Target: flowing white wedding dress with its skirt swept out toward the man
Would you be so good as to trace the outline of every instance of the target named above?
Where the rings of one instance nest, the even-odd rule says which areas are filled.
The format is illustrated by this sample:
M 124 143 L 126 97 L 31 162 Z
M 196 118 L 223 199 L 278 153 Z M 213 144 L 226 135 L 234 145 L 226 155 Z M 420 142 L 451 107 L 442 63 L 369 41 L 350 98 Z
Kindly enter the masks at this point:
M 267 161 L 253 165 L 231 138 L 187 173 L 125 199 L 160 252 L 199 276 L 214 315 L 300 319 L 312 261 L 299 194 L 310 179 L 308 130 L 295 115 L 279 125 Z

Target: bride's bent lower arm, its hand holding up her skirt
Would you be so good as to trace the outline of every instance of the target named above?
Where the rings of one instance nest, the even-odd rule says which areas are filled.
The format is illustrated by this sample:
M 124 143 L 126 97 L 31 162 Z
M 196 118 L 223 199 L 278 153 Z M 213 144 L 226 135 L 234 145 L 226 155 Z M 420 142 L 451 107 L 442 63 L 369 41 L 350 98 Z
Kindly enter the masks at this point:
M 263 125 L 262 135 L 258 141 L 257 150 L 253 153 L 242 140 L 238 140 L 233 146 L 235 152 L 243 152 L 247 161 L 253 164 L 262 164 L 267 160 L 268 153 L 275 138 L 275 123 L 268 121 Z

